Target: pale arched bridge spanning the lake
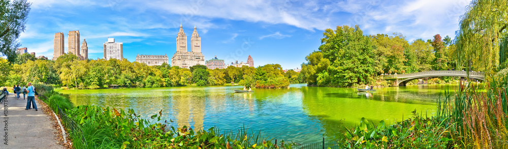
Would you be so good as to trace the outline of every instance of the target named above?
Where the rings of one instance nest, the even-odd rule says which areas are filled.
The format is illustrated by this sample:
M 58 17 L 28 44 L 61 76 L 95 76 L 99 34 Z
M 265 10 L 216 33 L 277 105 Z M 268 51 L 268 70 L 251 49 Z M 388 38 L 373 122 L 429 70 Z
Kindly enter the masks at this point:
M 469 74 L 469 75 L 468 75 Z M 390 74 L 384 75 L 385 79 L 395 79 L 395 86 L 406 86 L 406 83 L 420 78 L 428 77 L 464 77 L 471 79 L 478 79 L 485 81 L 484 72 L 470 72 L 470 71 L 456 71 L 456 70 L 438 70 L 438 71 L 423 71 L 416 73 L 406 74 Z

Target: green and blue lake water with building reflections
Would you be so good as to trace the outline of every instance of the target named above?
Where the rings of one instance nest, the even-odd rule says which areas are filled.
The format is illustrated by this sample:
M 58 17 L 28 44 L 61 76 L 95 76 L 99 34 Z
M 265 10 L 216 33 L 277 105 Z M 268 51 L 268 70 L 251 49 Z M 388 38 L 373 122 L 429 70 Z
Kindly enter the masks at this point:
M 424 85 L 376 88 L 358 93 L 355 88 L 307 87 L 292 84 L 289 89 L 255 89 L 234 93 L 241 86 L 169 87 L 140 89 L 59 90 L 70 94 L 76 105 L 132 108 L 143 118 L 163 110 L 163 120 L 173 126 L 195 129 L 218 127 L 236 131 L 242 127 L 261 130 L 264 136 L 298 143 L 336 139 L 344 126 L 352 127 L 362 117 L 393 123 L 417 110 L 435 114 L 436 99 L 452 85 Z

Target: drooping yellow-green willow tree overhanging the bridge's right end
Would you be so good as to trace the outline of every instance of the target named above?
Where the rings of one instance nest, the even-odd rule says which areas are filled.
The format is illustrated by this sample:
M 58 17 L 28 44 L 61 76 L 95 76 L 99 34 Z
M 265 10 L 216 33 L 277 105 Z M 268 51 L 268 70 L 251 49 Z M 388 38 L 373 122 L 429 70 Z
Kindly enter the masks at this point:
M 460 18 L 456 37 L 457 67 L 495 72 L 499 66 L 499 49 L 505 39 L 508 22 L 508 0 L 474 0 Z

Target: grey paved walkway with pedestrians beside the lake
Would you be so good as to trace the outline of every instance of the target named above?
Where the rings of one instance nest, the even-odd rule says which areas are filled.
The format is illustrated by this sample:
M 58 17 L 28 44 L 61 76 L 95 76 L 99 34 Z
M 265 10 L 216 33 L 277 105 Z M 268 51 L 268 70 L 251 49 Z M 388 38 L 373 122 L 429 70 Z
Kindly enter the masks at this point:
M 7 98 L 7 104 L 0 104 L 4 107 L 4 111 L 0 111 L 2 121 L 0 126 L 3 127 L 0 130 L 2 136 L 0 148 L 62 148 L 56 144 L 54 133 L 57 131 L 52 128 L 50 116 L 44 114 L 42 104 L 37 101 L 36 103 L 38 111 L 25 110 L 26 100 L 23 99 L 23 95 L 16 99 L 11 93 Z

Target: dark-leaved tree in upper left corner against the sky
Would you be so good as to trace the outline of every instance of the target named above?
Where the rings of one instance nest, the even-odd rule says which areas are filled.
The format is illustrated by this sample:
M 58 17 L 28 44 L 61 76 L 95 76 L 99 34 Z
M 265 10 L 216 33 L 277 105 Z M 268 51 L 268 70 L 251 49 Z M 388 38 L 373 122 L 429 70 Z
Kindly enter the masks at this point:
M 10 62 L 14 62 L 16 48 L 21 46 L 17 39 L 25 30 L 30 5 L 26 0 L 0 0 L 0 54 Z

